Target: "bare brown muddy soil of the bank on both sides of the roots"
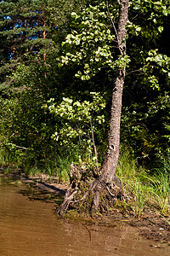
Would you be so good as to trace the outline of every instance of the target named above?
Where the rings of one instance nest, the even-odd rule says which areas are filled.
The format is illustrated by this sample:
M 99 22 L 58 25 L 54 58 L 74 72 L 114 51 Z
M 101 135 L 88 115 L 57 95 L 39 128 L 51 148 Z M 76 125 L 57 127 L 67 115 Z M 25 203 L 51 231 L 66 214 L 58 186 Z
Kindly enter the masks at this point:
M 15 178 L 20 178 L 22 183 L 33 184 L 52 195 L 60 195 L 63 199 L 69 185 L 68 183 L 59 183 L 55 177 L 49 178 L 44 174 L 34 177 L 27 177 L 24 174 L 21 177 L 16 177 L 15 175 Z M 84 220 L 86 221 L 86 219 Z M 88 221 L 89 218 L 87 218 Z M 141 236 L 151 240 L 161 241 L 162 243 L 166 242 L 170 245 L 170 216 L 167 218 L 160 217 L 158 213 L 150 211 L 150 209 L 148 212 L 144 212 L 140 218 L 129 216 L 128 214 L 122 213 L 120 209 L 115 209 L 109 214 L 99 214 L 99 216 L 91 218 L 91 221 L 95 224 L 105 223 L 108 226 L 113 221 L 126 222 L 129 225 L 135 226 Z

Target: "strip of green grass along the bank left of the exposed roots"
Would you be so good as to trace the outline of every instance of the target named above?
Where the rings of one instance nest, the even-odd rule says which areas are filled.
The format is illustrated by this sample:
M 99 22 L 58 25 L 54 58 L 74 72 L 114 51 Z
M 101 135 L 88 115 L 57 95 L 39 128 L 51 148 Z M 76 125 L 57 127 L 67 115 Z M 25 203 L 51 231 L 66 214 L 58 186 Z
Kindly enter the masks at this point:
M 37 175 L 42 173 L 48 175 L 52 180 L 56 177 L 59 182 L 67 182 L 70 178 L 70 166 L 72 158 L 67 155 L 58 155 L 54 160 L 42 160 L 40 162 L 23 157 L 20 152 L 0 148 L 0 167 L 1 172 L 25 172 L 26 175 Z

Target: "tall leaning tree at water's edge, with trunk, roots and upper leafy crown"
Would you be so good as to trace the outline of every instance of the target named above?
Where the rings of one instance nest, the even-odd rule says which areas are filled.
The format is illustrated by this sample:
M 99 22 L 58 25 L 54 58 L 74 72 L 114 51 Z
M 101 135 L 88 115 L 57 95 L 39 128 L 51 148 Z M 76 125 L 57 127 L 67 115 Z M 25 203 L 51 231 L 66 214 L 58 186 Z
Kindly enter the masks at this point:
M 138 16 L 143 18 L 134 24 L 127 19 L 128 9 L 130 9 L 131 19 Z M 163 12 L 161 12 L 162 9 Z M 168 13 L 167 1 L 153 3 L 150 0 L 133 1 L 130 2 L 129 7 L 128 1 L 111 2 L 111 5 L 100 3 L 97 6 L 90 5 L 82 15 L 72 13 L 74 18 L 72 32 L 67 35 L 62 44 L 65 55 L 61 56 L 59 65 L 61 67 L 70 63 L 75 65 L 77 69 L 75 76 L 82 80 L 92 79 L 96 73 L 105 68 L 108 71 L 108 77 L 114 81 L 108 149 L 101 167 L 101 175 L 89 185 L 82 199 L 79 199 L 82 201 L 91 191 L 94 195 L 92 207 L 94 210 L 99 207 L 99 191 L 105 188 L 108 194 L 114 197 L 116 186 L 121 187 L 116 177 L 116 166 L 119 156 L 122 89 L 128 62 L 132 62 L 128 73 L 137 73 L 141 84 L 147 86 L 152 92 L 159 90 L 160 86 L 156 69 L 168 77 L 167 56 L 162 57 L 156 53 L 156 50 L 150 50 L 152 47 L 155 48 L 156 38 L 159 38 L 163 30 L 162 16 L 167 16 Z M 150 21 L 146 20 L 144 15 L 147 15 Z M 153 24 L 155 24 L 154 27 Z M 128 37 L 130 39 L 127 41 Z M 141 44 L 141 38 L 145 40 L 144 45 Z M 131 58 L 127 55 L 126 41 Z M 156 63 L 156 69 L 150 65 L 150 61 Z M 132 83 L 132 80 L 129 82 Z M 78 201 L 75 195 L 80 190 L 80 184 L 74 177 L 80 178 L 80 175 L 76 169 L 71 166 L 71 186 L 65 195 L 65 201 L 59 207 L 60 214 L 69 207 L 71 202 L 74 204 Z

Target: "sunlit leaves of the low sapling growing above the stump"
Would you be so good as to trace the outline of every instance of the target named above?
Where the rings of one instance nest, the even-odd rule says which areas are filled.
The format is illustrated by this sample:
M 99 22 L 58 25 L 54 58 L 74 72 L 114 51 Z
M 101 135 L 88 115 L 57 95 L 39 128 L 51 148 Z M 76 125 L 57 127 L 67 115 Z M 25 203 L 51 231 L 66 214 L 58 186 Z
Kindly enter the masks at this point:
M 97 132 L 96 125 L 105 122 L 105 116 L 101 114 L 101 110 L 105 108 L 103 96 L 95 92 L 89 94 L 92 97 L 91 102 L 73 102 L 72 99 L 63 97 L 59 105 L 56 106 L 54 99 L 50 99 L 48 105 L 44 107 L 60 118 L 60 124 L 56 126 L 52 136 L 54 140 L 70 149 L 76 149 L 77 144 L 80 144 L 84 154 L 92 154 L 92 132 Z

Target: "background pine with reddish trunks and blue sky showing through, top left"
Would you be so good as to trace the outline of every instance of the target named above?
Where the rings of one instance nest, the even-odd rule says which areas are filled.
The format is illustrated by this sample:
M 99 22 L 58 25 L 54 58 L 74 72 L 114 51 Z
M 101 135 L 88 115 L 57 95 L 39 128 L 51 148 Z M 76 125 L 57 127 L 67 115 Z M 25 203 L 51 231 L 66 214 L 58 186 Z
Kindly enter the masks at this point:
M 59 40 L 64 37 L 68 14 L 74 6 L 72 0 L 0 3 L 0 40 L 4 42 L 1 44 L 1 90 L 13 87 L 16 90 L 20 69 L 29 69 L 31 62 L 48 65 L 46 57 L 52 51 L 59 52 Z

